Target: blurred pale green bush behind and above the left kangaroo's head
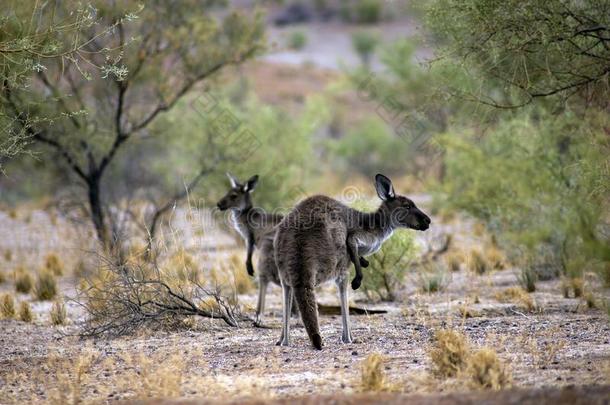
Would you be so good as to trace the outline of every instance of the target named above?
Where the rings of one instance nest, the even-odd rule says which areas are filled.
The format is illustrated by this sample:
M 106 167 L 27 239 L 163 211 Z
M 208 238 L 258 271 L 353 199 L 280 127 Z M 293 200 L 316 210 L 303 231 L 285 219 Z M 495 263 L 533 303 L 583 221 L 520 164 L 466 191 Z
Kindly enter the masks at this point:
M 202 113 L 196 103 L 193 107 L 182 105 L 157 127 L 172 134 L 160 140 L 167 151 L 164 159 L 153 163 L 157 181 L 175 184 L 200 161 L 217 156 L 217 175 L 206 178 L 205 194 L 201 195 L 206 202 L 215 204 L 226 193 L 229 183 L 224 172 L 228 171 L 239 179 L 260 176 L 253 196 L 256 205 L 268 210 L 292 207 L 304 196 L 306 179 L 314 168 L 311 134 L 325 120 L 323 105 L 308 99 L 295 118 L 254 97 L 241 105 L 231 103 L 222 94 L 214 97 L 218 99 L 214 111 Z M 233 117 L 236 130 L 219 131 L 219 114 Z M 206 147 L 199 151 L 197 145 Z

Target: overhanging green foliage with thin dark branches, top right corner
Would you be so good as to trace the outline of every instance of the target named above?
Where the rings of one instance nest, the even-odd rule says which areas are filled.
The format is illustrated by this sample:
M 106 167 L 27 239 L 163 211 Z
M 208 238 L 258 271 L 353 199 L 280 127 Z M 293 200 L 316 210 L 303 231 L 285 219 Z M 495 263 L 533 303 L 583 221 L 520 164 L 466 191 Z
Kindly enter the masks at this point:
M 427 21 L 446 54 L 460 58 L 474 77 L 496 83 L 464 96 L 522 105 L 576 94 L 607 105 L 606 0 L 435 0 L 428 4 Z

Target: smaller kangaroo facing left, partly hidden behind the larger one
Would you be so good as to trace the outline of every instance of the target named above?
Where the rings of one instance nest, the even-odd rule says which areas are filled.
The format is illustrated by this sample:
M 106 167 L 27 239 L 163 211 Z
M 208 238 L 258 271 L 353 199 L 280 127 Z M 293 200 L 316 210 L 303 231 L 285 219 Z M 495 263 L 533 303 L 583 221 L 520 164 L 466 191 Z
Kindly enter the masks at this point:
M 261 326 L 265 311 L 265 298 L 269 282 L 280 284 L 275 255 L 273 253 L 273 237 L 277 224 L 283 218 L 281 214 L 270 214 L 261 208 L 254 208 L 250 194 L 258 183 L 258 175 L 252 176 L 244 184 L 237 178 L 227 173 L 231 182 L 231 188 L 227 194 L 216 204 L 221 211 L 231 210 L 231 221 L 233 227 L 241 235 L 246 243 L 246 269 L 250 276 L 254 276 L 252 265 L 252 254 L 254 249 L 259 249 L 258 257 L 258 303 L 256 306 L 256 319 L 254 324 Z M 368 265 L 364 258 L 360 258 L 363 267 Z M 293 314 L 297 313 L 297 305 L 293 308 Z

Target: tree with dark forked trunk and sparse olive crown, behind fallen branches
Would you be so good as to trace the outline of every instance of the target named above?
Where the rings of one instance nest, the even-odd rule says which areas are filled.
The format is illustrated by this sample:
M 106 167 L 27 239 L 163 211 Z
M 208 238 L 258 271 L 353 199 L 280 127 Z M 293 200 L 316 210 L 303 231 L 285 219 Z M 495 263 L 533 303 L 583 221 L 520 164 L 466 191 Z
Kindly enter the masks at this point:
M 97 2 L 92 10 L 101 24 L 81 27 L 78 35 L 87 41 L 79 52 L 93 55 L 90 63 L 102 67 L 102 78 L 94 78 L 88 67 L 51 60 L 35 73 L 29 91 L 5 81 L 3 108 L 84 185 L 90 219 L 105 248 L 116 247 L 117 236 L 110 233 L 103 179 L 120 151 L 149 134 L 158 117 L 196 85 L 262 49 L 260 14 L 231 12 L 219 21 L 210 14 L 217 3 L 150 1 L 126 24 L 125 16 L 138 10 L 135 2 Z M 57 4 L 54 12 L 69 15 L 74 4 Z M 116 35 L 100 35 L 100 26 L 115 26 Z M 102 49 L 117 51 L 102 57 Z M 49 125 L 31 122 L 32 114 L 67 119 Z

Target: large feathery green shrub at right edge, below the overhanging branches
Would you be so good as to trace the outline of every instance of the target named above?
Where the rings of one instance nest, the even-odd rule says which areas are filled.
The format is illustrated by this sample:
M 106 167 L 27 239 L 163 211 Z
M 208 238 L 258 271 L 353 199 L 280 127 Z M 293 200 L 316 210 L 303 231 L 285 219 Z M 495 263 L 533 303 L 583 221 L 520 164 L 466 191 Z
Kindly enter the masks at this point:
M 447 136 L 447 203 L 487 222 L 525 257 L 548 267 L 582 257 L 610 260 L 596 227 L 610 201 L 608 119 L 534 110 L 484 137 Z M 543 263 L 532 263 L 529 258 Z M 586 262 L 587 260 L 585 260 Z

